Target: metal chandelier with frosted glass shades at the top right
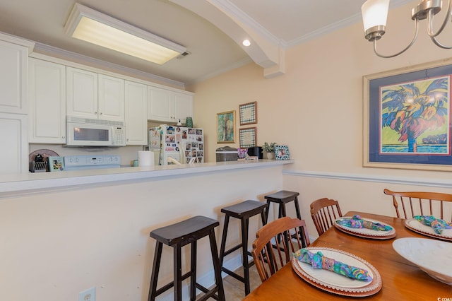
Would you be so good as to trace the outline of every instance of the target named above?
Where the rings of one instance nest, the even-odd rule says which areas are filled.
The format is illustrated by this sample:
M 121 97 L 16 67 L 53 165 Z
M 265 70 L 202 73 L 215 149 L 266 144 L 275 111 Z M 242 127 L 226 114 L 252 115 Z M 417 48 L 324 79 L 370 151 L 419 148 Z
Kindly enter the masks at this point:
M 427 33 L 438 47 L 451 49 L 452 46 L 441 44 L 436 37 L 444 30 L 446 23 L 451 18 L 452 0 L 448 1 L 446 18 L 436 33 L 433 30 L 433 16 L 441 11 L 443 5 L 442 0 L 422 0 L 415 8 L 411 10 L 411 19 L 415 21 L 415 35 L 412 37 L 410 44 L 400 52 L 392 55 L 383 55 L 376 49 L 376 41 L 380 40 L 386 29 L 386 19 L 388 18 L 389 0 L 367 0 L 362 4 L 362 20 L 364 23 L 364 36 L 369 42 L 374 42 L 374 52 L 379 57 L 390 58 L 396 57 L 410 48 L 417 39 L 419 29 L 419 21 L 427 19 Z

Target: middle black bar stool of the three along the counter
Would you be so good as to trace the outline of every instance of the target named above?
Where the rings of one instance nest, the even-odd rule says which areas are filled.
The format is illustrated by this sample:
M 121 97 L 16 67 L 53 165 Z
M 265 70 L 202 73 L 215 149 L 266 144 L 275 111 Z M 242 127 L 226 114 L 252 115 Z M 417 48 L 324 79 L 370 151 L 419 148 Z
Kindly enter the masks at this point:
M 221 247 L 220 247 L 221 271 L 236 278 L 238 281 L 242 281 L 245 284 L 245 295 L 248 295 L 249 291 L 250 291 L 249 267 L 253 266 L 253 264 L 254 264 L 254 261 L 251 261 L 251 263 L 249 263 L 249 261 L 248 261 L 248 256 L 252 256 L 251 252 L 248 251 L 249 218 L 251 218 L 251 216 L 256 216 L 258 214 L 261 214 L 262 225 L 265 225 L 267 223 L 267 218 L 266 218 L 266 213 L 265 213 L 265 209 L 267 208 L 267 206 L 268 206 L 268 204 L 260 202 L 260 201 L 248 200 L 248 201 L 243 201 L 242 203 L 237 203 L 235 205 L 227 206 L 227 207 L 221 209 L 221 212 L 225 213 L 225 215 L 226 215 L 225 216 L 225 227 L 223 228 L 223 235 L 222 235 Z M 231 247 L 228 250 L 225 250 L 227 228 L 229 225 L 230 217 L 238 218 L 241 222 L 242 242 L 240 244 L 237 244 L 234 247 Z M 237 275 L 237 273 L 234 273 L 230 269 L 227 269 L 223 266 L 223 261 L 225 259 L 225 256 L 228 254 L 231 254 L 232 252 L 234 252 L 240 248 L 242 248 L 242 262 L 243 262 L 243 269 L 244 269 L 244 277 Z

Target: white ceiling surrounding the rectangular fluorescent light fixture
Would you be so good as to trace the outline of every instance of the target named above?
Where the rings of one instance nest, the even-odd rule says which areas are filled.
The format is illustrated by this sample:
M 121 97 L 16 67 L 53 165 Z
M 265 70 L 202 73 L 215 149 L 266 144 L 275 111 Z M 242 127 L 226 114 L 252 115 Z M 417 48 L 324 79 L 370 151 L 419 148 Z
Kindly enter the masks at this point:
M 49 53 L 55 48 L 63 49 L 66 52 L 168 78 L 183 85 L 200 81 L 254 59 L 249 55 L 249 49 L 244 49 L 237 40 L 250 28 L 254 32 L 254 40 L 258 35 L 271 44 L 286 49 L 342 26 L 361 22 L 360 9 L 364 0 L 78 1 L 80 4 L 172 40 L 191 52 L 184 59 L 173 59 L 161 66 L 64 35 L 64 24 L 75 2 L 75 0 L 0 0 L 0 31 L 37 42 L 36 52 Z M 178 2 L 189 9 L 179 6 Z M 391 6 L 400 6 L 408 2 L 410 1 L 392 0 Z M 223 18 L 216 18 L 219 11 L 222 16 L 227 16 L 229 22 L 225 22 Z

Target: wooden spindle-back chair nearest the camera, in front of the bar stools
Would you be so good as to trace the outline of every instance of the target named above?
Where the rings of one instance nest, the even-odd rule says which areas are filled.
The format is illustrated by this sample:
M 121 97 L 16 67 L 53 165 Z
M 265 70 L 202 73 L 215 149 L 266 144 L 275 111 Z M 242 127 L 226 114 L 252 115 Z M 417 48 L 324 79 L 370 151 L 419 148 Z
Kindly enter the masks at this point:
M 270 278 L 290 261 L 294 252 L 309 244 L 304 220 L 286 216 L 264 225 L 256 232 L 251 250 L 261 281 Z

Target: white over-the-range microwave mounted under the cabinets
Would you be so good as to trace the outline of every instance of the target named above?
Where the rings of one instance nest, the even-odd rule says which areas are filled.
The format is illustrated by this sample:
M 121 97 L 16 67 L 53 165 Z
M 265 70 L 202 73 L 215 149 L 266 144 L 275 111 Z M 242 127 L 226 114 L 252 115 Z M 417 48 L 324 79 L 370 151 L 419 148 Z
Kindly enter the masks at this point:
M 124 122 L 66 117 L 66 146 L 126 146 Z

